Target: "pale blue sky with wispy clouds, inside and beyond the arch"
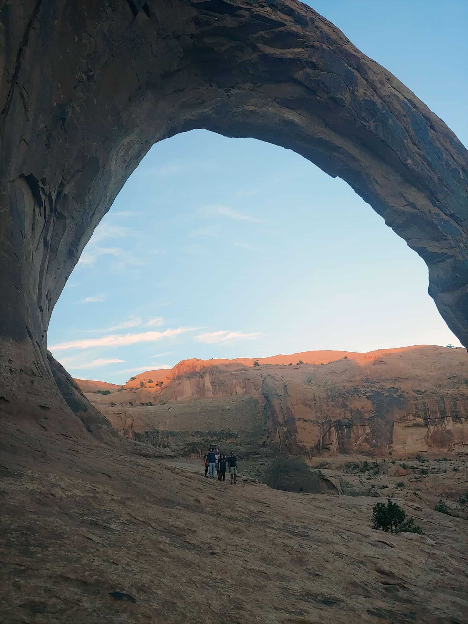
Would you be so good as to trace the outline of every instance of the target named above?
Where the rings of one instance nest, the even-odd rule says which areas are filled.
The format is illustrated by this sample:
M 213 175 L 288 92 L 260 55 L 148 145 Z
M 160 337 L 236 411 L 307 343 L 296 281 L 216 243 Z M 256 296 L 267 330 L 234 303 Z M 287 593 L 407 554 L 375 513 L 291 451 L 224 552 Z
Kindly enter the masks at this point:
M 468 144 L 465 1 L 310 3 Z M 154 145 L 96 228 L 48 344 L 124 383 L 187 358 L 459 346 L 427 268 L 342 180 L 205 130 Z

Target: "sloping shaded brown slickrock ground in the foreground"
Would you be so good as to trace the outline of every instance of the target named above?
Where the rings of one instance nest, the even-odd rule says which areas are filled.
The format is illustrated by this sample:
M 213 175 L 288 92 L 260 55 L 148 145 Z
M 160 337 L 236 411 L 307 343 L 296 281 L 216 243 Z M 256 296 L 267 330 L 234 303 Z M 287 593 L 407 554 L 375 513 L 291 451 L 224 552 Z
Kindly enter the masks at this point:
M 2 447 L 2 623 L 468 622 L 466 520 L 402 502 L 426 535 L 384 534 L 373 497 L 222 484 L 89 440 Z

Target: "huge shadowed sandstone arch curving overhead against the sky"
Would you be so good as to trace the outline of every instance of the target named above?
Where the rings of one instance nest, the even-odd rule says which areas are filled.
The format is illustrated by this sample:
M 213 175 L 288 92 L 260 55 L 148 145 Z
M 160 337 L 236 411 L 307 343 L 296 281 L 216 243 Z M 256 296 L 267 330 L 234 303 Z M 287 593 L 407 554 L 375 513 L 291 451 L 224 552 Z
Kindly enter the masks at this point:
M 7 416 L 40 425 L 52 408 L 72 422 L 46 356 L 54 305 L 147 150 L 190 129 L 282 145 L 346 180 L 426 261 L 429 293 L 468 345 L 467 152 L 312 9 L 24 0 L 4 3 L 0 19 Z

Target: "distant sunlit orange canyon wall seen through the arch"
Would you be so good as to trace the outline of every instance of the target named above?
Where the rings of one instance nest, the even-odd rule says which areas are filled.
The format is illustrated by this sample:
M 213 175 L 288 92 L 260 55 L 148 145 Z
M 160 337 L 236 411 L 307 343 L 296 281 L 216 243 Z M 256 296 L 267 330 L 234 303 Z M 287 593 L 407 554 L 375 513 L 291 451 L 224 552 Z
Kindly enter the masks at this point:
M 192 359 L 87 396 L 123 436 L 183 454 L 212 443 L 246 456 L 468 451 L 464 349 Z

